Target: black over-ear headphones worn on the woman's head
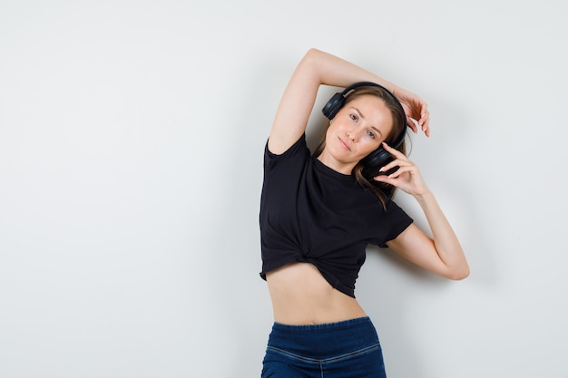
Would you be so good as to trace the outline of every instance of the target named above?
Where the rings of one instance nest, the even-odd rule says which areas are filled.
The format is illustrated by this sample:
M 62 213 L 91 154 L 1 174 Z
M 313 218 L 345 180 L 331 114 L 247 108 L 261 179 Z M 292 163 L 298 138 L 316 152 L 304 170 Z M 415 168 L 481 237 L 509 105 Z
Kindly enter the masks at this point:
M 378 85 L 376 82 L 356 82 L 354 84 L 349 85 L 345 90 L 343 90 L 343 92 L 338 92 L 334 94 L 333 97 L 329 99 L 328 103 L 326 103 L 326 105 L 323 107 L 321 111 L 323 111 L 323 114 L 326 117 L 328 117 L 329 120 L 332 120 L 333 117 L 335 117 L 336 114 L 338 113 L 339 109 L 341 109 L 343 105 L 345 105 L 346 96 L 348 95 L 349 92 L 353 91 L 358 87 L 367 87 L 367 86 L 378 87 L 384 90 L 385 92 L 387 92 L 388 95 L 395 101 L 395 103 L 397 103 L 398 107 L 400 108 L 399 111 L 401 114 L 403 114 L 403 117 L 405 117 L 404 122 L 406 125 L 406 115 L 405 115 L 405 110 L 402 107 L 402 104 L 398 101 L 397 97 L 395 97 L 393 93 L 388 91 L 387 88 L 385 88 L 384 86 Z M 393 143 L 391 147 L 398 149 L 398 147 L 400 147 L 402 142 L 405 141 L 405 137 L 406 137 L 406 128 L 404 131 L 400 133 L 397 140 L 395 141 L 395 143 Z M 361 171 L 361 173 L 363 174 L 363 177 L 365 177 L 371 182 L 374 182 L 373 179 L 374 177 L 378 175 L 389 175 L 398 169 L 398 167 L 394 167 L 392 170 L 387 170 L 385 172 L 378 171 L 392 160 L 393 158 L 390 152 L 383 149 L 383 147 L 381 146 L 377 150 L 374 150 L 373 152 L 369 153 L 365 158 L 363 158 L 360 161 L 361 164 L 363 164 L 363 170 Z

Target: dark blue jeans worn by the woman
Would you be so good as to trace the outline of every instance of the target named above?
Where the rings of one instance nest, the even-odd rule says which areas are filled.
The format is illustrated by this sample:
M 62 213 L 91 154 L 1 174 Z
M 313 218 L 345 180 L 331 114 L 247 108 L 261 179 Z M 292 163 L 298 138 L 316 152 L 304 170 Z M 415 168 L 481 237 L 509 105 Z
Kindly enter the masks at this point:
M 262 378 L 386 378 L 377 331 L 368 317 L 324 325 L 275 323 Z

